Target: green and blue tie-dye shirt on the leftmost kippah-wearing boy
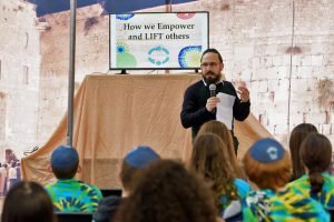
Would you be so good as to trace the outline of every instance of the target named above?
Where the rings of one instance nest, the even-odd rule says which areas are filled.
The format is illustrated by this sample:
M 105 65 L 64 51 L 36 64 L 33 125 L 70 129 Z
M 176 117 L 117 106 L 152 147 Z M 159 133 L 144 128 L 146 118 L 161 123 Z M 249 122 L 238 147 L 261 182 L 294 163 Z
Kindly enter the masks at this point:
M 61 212 L 94 212 L 102 199 L 100 190 L 81 181 L 58 180 L 47 185 L 56 211 Z

